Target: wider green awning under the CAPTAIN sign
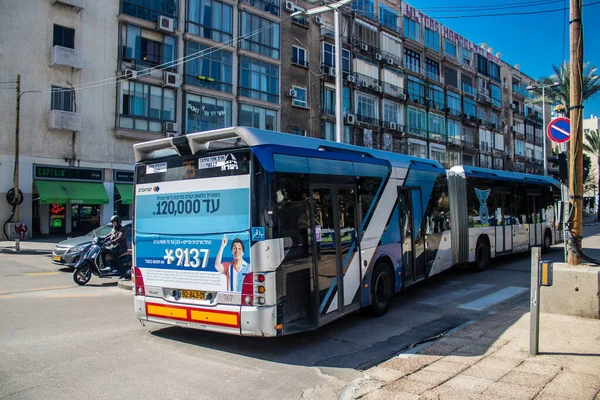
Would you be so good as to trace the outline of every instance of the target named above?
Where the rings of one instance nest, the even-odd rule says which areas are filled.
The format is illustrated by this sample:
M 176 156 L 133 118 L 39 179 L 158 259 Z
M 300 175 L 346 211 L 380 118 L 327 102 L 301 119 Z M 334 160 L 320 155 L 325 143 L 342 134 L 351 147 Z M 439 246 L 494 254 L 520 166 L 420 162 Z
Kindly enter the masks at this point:
M 102 183 L 35 180 L 42 204 L 108 204 Z

